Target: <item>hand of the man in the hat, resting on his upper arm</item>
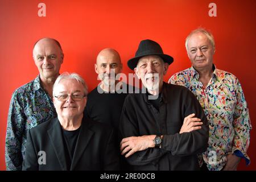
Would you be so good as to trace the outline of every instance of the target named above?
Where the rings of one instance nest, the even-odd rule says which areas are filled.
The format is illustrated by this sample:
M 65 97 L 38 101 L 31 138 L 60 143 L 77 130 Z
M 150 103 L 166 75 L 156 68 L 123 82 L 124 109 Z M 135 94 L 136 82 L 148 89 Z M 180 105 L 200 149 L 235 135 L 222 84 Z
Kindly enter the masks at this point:
M 195 114 L 190 114 L 184 118 L 183 125 L 180 129 L 180 134 L 201 129 L 200 125 L 203 125 L 203 122 L 199 122 L 201 119 L 193 117 L 195 117 Z

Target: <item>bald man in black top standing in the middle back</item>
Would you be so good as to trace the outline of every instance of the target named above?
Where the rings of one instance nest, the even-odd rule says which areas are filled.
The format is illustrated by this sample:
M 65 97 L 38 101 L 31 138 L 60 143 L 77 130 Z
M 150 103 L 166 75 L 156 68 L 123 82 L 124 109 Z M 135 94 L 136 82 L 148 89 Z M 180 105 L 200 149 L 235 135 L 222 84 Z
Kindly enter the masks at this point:
M 103 49 L 98 53 L 94 69 L 101 82 L 88 94 L 85 116 L 112 126 L 117 134 L 123 102 L 129 89 L 128 85 L 117 79 L 117 74 L 122 72 L 119 53 L 112 48 Z M 116 146 L 119 148 L 118 140 Z M 125 169 L 123 163 L 125 162 L 121 160 L 121 169 Z

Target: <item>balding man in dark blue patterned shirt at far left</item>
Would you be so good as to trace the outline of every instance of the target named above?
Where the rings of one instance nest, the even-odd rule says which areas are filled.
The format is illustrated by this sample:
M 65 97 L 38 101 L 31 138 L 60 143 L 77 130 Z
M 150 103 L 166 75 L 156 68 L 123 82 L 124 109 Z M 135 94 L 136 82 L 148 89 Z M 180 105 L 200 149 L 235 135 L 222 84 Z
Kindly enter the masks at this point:
M 55 39 L 35 43 L 33 59 L 39 75 L 16 89 L 11 97 L 6 131 L 6 169 L 22 169 L 27 131 L 57 117 L 52 102 L 52 88 L 63 63 L 63 51 Z

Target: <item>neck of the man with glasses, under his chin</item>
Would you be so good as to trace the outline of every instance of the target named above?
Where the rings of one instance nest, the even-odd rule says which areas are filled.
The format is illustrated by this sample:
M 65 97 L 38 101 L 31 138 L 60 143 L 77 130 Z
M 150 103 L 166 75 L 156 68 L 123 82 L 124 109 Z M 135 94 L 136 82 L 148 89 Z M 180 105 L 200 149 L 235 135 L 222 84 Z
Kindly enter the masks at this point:
M 64 130 L 73 131 L 79 129 L 79 127 L 81 126 L 82 117 L 83 114 L 76 118 L 62 118 L 58 116 L 58 119 L 60 121 L 60 125 Z

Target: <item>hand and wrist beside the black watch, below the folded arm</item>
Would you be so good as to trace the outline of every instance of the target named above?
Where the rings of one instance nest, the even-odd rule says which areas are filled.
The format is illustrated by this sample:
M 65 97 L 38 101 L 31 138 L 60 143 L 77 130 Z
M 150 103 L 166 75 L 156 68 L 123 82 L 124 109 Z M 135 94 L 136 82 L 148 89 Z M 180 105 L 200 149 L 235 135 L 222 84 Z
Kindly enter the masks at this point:
M 137 151 L 146 150 L 147 148 L 155 147 L 154 139 L 156 135 L 144 135 L 142 137 L 127 137 L 123 138 L 120 143 L 121 154 L 126 154 L 128 158 Z

